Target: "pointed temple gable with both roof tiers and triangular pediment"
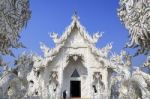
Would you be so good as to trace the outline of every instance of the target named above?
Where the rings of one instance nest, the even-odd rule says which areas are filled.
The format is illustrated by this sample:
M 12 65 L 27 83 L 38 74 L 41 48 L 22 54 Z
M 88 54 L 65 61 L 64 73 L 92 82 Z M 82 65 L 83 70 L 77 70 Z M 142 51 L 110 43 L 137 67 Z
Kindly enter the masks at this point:
M 71 24 L 66 28 L 61 37 L 58 37 L 58 34 L 54 32 L 50 34 L 50 37 L 56 44 L 54 48 L 49 48 L 43 43 L 41 43 L 40 46 L 44 52 L 44 66 L 47 66 L 48 62 L 52 62 L 63 47 L 73 49 L 89 48 L 98 61 L 100 61 L 101 58 L 106 58 L 112 48 L 112 45 L 108 44 L 104 49 L 97 49 L 95 43 L 102 37 L 102 33 L 97 32 L 93 36 L 90 36 L 86 29 L 80 24 L 77 14 L 72 16 Z

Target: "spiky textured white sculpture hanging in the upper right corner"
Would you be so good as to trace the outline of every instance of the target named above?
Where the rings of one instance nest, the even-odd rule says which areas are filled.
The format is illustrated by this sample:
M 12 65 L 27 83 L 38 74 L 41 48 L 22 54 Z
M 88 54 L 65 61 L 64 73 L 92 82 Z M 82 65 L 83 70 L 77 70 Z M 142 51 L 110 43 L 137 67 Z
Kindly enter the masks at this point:
M 127 47 L 138 47 L 137 54 L 147 54 L 150 49 L 150 1 L 120 0 L 118 16 L 129 30 Z

